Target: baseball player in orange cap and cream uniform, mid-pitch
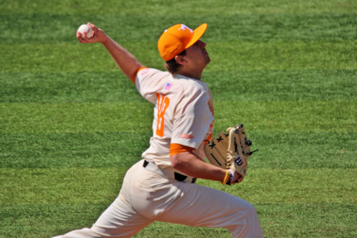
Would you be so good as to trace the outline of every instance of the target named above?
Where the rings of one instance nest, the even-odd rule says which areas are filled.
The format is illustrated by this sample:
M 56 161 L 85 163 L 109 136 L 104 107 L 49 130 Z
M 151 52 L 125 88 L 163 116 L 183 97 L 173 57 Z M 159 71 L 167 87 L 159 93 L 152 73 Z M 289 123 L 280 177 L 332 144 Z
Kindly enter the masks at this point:
M 91 228 L 63 238 L 132 237 L 154 221 L 226 228 L 233 237 L 262 237 L 252 204 L 220 190 L 195 184 L 196 178 L 223 184 L 241 182 L 236 171 L 205 162 L 203 146 L 213 133 L 213 101 L 202 71 L 210 62 L 195 30 L 177 24 L 163 32 L 158 48 L 167 71 L 142 65 L 101 29 L 77 32 L 82 43 L 101 42 L 137 90 L 155 105 L 150 147 L 126 173 L 116 200 Z

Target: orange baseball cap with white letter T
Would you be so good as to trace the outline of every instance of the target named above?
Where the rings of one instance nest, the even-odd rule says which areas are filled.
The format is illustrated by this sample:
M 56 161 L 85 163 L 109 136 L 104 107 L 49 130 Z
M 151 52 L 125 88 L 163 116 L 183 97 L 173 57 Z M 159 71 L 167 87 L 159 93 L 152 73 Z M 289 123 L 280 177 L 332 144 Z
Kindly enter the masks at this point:
M 205 33 L 207 24 L 203 23 L 195 30 L 186 25 L 177 24 L 165 30 L 160 36 L 157 48 L 165 61 L 173 59 L 176 55 L 195 44 Z

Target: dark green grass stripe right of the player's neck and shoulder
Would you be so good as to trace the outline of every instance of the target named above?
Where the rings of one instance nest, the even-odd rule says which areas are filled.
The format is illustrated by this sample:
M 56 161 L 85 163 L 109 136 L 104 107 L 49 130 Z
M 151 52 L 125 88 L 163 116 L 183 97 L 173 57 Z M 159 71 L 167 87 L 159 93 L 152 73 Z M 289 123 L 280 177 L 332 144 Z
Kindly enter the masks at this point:
M 203 72 L 213 101 L 356 100 L 355 70 Z

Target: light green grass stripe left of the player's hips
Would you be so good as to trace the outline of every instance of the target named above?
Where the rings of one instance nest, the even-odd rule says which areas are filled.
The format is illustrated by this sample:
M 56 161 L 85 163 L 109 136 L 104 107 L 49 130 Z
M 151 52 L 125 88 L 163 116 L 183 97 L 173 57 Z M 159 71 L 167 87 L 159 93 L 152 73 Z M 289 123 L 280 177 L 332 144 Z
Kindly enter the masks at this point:
M 0 203 L 109 203 L 119 194 L 127 169 L 0 169 Z

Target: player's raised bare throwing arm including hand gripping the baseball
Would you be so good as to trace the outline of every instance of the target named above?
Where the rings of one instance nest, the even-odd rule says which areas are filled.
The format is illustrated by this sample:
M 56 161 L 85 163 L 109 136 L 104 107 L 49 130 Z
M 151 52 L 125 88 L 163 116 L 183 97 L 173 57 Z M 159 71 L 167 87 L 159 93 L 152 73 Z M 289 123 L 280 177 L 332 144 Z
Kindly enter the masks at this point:
M 88 22 L 88 25 L 93 29 L 94 33 L 92 37 L 88 38 L 86 33 L 84 33 L 84 38 L 82 38 L 81 33 L 77 32 L 77 39 L 82 43 L 102 43 L 116 64 L 129 79 L 131 79 L 139 68 L 144 67 L 129 51 L 106 35 L 103 30 L 90 22 Z

